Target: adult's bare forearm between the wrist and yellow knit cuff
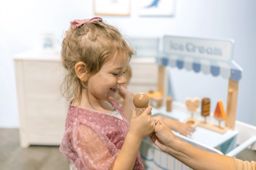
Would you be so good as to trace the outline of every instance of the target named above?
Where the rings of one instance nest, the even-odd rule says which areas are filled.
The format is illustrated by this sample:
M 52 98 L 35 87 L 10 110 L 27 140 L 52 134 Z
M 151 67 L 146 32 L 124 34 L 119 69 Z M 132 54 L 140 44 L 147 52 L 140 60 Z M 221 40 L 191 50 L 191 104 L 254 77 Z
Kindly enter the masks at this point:
M 167 153 L 194 170 L 235 169 L 234 158 L 200 150 L 183 141 L 177 141 Z

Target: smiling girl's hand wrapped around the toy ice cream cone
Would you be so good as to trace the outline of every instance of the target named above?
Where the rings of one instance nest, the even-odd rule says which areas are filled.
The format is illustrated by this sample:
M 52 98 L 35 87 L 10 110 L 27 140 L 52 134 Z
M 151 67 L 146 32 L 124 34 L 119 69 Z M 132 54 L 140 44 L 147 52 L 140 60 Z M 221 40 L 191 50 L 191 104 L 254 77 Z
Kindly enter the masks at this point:
M 137 116 L 135 109 L 132 110 L 129 132 L 134 137 L 143 139 L 155 129 L 155 121 L 151 115 L 152 107 L 149 105 L 140 116 Z

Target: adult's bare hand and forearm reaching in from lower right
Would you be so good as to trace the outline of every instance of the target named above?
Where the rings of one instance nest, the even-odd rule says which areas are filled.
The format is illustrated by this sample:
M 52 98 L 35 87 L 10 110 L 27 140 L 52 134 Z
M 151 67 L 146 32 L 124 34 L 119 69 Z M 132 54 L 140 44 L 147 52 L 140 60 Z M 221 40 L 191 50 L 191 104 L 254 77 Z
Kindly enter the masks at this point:
M 155 130 L 149 135 L 149 138 L 162 151 L 194 170 L 235 169 L 234 158 L 204 151 L 189 143 L 183 142 L 172 133 L 171 129 L 164 123 L 162 117 L 157 116 L 154 119 L 156 123 Z

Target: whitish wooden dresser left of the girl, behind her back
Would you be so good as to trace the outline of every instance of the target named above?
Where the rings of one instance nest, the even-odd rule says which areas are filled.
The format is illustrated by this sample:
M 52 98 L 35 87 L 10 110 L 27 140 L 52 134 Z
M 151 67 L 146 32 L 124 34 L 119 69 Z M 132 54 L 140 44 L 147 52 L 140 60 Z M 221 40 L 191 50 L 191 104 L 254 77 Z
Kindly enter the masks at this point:
M 20 145 L 60 145 L 68 104 L 61 97 L 64 76 L 57 52 L 31 50 L 14 56 Z

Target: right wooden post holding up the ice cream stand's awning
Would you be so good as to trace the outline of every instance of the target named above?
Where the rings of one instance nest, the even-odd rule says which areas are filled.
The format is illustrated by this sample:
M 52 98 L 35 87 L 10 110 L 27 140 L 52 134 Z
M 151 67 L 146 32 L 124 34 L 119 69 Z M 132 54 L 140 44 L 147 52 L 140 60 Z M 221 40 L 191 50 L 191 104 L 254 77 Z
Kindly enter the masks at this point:
M 227 120 L 226 127 L 234 130 L 235 129 L 235 116 L 237 110 L 237 94 L 238 94 L 238 83 L 229 78 L 228 81 L 228 98 L 227 98 Z

